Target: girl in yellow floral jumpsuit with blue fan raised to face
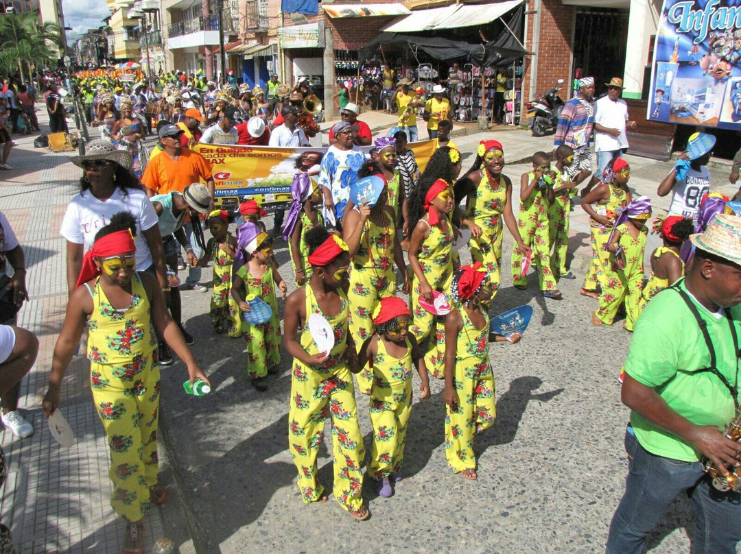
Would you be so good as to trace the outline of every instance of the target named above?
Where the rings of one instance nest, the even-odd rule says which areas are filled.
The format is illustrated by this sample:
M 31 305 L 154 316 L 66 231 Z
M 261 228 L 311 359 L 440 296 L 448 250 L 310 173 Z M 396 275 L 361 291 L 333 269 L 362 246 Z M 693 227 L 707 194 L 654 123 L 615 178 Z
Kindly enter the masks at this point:
M 376 304 L 385 296 L 396 293 L 396 274 L 393 264 L 402 273 L 403 292 L 409 293 L 409 273 L 404 263 L 399 238 L 396 236 L 396 215 L 387 202 L 388 187 L 384 187 L 376 204 L 354 206 L 345 214 L 343 234 L 350 248 L 350 333 L 357 341 L 365 341 L 373 334 L 371 315 Z M 373 374 L 366 366 L 358 374 L 358 388 L 371 394 Z

